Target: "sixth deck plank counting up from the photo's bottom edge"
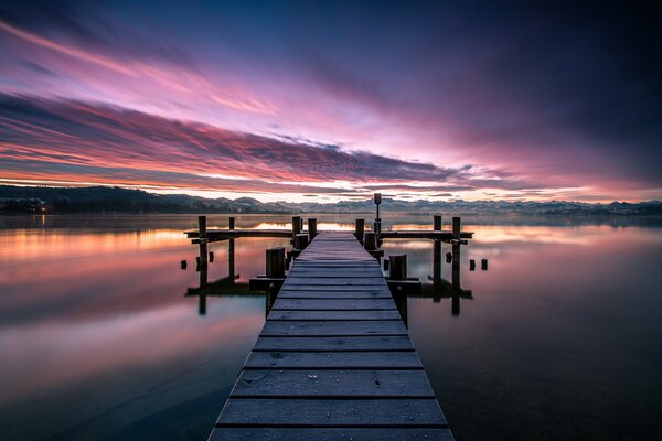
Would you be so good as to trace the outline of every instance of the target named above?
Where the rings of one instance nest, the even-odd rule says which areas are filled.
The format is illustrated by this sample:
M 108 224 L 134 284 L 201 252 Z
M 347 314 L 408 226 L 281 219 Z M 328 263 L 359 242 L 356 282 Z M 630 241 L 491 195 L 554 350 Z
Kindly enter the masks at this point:
M 276 322 L 267 321 L 261 336 L 407 335 L 397 321 Z

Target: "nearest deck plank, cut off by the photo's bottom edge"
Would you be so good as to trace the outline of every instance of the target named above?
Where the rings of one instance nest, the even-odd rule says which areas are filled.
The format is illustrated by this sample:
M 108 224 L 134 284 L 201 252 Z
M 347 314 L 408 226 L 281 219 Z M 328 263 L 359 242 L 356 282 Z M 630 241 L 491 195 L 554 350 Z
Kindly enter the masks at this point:
M 449 429 L 438 428 L 281 428 L 214 429 L 209 441 L 452 441 Z

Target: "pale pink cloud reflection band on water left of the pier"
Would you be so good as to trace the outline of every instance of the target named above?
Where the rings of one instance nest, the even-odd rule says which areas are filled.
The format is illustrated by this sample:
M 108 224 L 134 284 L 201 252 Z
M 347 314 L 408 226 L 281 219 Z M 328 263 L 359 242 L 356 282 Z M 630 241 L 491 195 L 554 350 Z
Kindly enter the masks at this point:
M 179 303 L 103 321 L 31 323 L 4 329 L 0 333 L 0 353 L 11 356 L 3 356 L 0 366 L 0 404 L 26 399 L 52 385 L 84 383 L 119 369 L 159 365 L 207 352 L 210 347 L 214 347 L 214 353 L 220 348 L 244 351 L 264 321 L 261 308 L 242 311 L 235 304 L 223 312 L 218 303 L 211 311 L 209 325 L 192 314 L 191 304 Z

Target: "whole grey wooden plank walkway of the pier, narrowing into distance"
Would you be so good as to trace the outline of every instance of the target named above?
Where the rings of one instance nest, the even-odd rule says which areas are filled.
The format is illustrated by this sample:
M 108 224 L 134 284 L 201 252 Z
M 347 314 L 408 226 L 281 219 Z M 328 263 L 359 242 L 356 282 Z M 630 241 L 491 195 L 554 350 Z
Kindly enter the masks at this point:
M 320 233 L 293 261 L 210 440 L 452 440 L 352 233 Z

